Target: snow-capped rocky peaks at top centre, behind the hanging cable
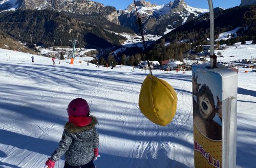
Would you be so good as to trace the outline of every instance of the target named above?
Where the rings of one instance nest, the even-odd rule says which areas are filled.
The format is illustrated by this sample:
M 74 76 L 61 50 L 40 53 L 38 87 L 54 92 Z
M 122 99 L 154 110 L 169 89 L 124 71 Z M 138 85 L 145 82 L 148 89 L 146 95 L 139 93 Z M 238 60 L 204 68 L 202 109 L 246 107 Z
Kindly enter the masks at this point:
M 163 5 L 151 4 L 143 0 L 137 1 L 136 6 L 140 17 L 143 17 L 145 33 L 151 34 L 163 34 L 166 29 L 175 29 L 209 11 L 208 9 L 190 7 L 184 0 L 170 1 Z M 118 19 L 121 25 L 139 32 L 138 26 L 133 24 L 137 19 L 134 4 L 129 5 L 126 10 L 119 10 Z

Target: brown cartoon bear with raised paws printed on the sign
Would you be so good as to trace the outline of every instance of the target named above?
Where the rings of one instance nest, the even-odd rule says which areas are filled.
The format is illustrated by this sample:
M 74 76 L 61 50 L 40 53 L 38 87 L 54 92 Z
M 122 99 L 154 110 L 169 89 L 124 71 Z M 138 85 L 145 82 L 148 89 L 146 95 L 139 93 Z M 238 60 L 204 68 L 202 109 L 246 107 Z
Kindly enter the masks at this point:
M 199 89 L 201 84 L 197 83 L 197 77 L 195 78 L 195 74 L 193 80 L 193 90 L 195 89 L 193 93 L 196 96 L 196 100 L 193 98 L 194 124 L 198 130 L 207 138 L 214 141 L 220 141 L 222 139 L 222 129 L 221 125 L 214 121 L 217 111 L 214 102 L 214 96 L 206 84 L 203 84 Z M 194 85 L 196 87 L 194 87 Z

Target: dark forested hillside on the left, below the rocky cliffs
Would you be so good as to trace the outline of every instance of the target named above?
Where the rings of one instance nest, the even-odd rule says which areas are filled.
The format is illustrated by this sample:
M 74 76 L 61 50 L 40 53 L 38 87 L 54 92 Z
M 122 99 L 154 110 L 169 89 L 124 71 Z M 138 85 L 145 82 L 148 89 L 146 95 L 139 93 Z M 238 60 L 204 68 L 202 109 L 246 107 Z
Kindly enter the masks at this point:
M 50 46 L 69 46 L 76 38 L 78 47 L 120 46 L 124 37 L 113 32 L 129 32 L 97 15 L 74 15 L 52 10 L 17 10 L 0 14 L 0 29 L 16 40 Z

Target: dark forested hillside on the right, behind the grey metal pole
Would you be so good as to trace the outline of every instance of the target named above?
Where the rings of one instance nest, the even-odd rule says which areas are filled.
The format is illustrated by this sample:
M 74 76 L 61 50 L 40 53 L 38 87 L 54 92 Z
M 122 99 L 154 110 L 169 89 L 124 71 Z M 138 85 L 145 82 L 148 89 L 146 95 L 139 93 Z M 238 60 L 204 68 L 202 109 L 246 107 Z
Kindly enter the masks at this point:
M 253 40 L 256 43 L 256 17 L 248 17 L 256 16 L 255 9 L 255 6 L 238 6 L 226 10 L 215 9 L 215 39 L 219 37 L 220 33 L 241 27 L 241 30 L 237 32 L 238 37 L 216 43 L 232 45 L 235 42 L 247 40 Z M 206 13 L 198 19 L 178 27 L 148 47 L 148 56 L 151 60 L 156 61 L 167 59 L 182 61 L 188 50 L 195 49 L 196 51 L 197 45 L 209 43 L 207 40 L 210 37 L 209 24 L 209 13 Z M 166 43 L 169 44 L 166 45 Z M 143 53 L 140 55 L 145 58 Z

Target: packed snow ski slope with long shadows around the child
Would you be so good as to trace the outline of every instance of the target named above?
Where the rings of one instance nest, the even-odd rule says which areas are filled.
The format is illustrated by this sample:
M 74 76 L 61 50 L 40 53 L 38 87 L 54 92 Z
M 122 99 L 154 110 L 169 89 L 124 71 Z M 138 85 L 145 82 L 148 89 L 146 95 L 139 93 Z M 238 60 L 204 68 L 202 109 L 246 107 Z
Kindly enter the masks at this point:
M 31 57 L 0 49 L 0 167 L 43 167 L 68 121 L 67 105 L 78 97 L 89 102 L 98 119 L 97 167 L 194 167 L 191 72 L 153 70 L 178 95 L 172 123 L 161 127 L 138 106 L 148 71 L 95 68 L 78 60 L 52 65 L 51 58 L 38 55 L 32 63 Z M 240 69 L 238 78 L 237 167 L 254 167 L 256 73 Z M 62 157 L 55 167 L 64 162 Z

